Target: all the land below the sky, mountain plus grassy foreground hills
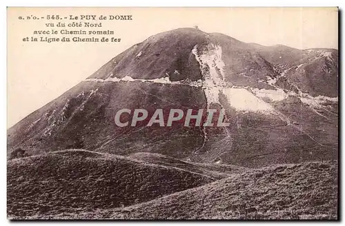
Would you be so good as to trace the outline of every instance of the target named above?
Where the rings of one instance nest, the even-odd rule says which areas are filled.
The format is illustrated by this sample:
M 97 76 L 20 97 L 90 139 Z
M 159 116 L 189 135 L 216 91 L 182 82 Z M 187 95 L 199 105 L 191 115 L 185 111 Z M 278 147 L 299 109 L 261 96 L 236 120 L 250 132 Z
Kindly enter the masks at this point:
M 8 218 L 337 219 L 338 81 L 337 50 L 155 34 L 8 130 Z

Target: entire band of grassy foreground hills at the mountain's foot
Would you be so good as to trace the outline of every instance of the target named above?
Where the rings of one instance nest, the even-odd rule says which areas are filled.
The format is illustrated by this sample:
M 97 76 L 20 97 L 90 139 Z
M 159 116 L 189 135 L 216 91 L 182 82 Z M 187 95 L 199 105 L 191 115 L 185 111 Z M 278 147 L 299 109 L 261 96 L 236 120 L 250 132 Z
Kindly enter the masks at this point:
M 212 182 L 208 177 L 222 171 L 226 178 Z M 8 216 L 336 218 L 337 161 L 241 172 L 237 167 L 186 163 L 159 154 L 128 158 L 81 150 L 53 152 L 8 162 Z

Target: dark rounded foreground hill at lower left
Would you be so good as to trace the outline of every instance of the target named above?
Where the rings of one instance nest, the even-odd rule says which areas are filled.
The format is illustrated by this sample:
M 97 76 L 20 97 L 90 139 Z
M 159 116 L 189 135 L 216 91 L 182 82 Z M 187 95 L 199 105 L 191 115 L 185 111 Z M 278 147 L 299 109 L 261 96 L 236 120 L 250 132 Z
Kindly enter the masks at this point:
M 209 176 L 84 150 L 8 161 L 8 216 L 124 207 L 215 181 Z

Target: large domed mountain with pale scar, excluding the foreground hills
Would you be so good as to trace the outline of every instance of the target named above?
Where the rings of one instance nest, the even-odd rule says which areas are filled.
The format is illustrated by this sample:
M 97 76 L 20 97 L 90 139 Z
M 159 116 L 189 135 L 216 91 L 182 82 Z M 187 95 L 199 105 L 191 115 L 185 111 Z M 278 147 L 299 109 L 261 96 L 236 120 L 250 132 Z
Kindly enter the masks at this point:
M 244 167 L 337 159 L 337 82 L 337 50 L 266 47 L 181 28 L 133 45 L 11 127 L 8 153 L 150 152 Z M 124 108 L 149 117 L 163 109 L 165 120 L 171 109 L 224 109 L 230 125 L 119 127 L 115 114 Z

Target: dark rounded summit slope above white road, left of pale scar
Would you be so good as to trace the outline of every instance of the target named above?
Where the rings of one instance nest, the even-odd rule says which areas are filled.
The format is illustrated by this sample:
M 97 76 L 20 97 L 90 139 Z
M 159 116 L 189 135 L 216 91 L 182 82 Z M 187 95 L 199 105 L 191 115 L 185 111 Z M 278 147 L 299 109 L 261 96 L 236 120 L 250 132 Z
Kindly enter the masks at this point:
M 160 79 L 168 74 L 172 81 L 201 79 L 199 65 L 191 53 L 195 45 L 208 43 L 207 33 L 195 28 L 179 28 L 155 34 L 133 45 L 109 61 L 89 79 Z M 176 71 L 180 76 L 176 76 Z

